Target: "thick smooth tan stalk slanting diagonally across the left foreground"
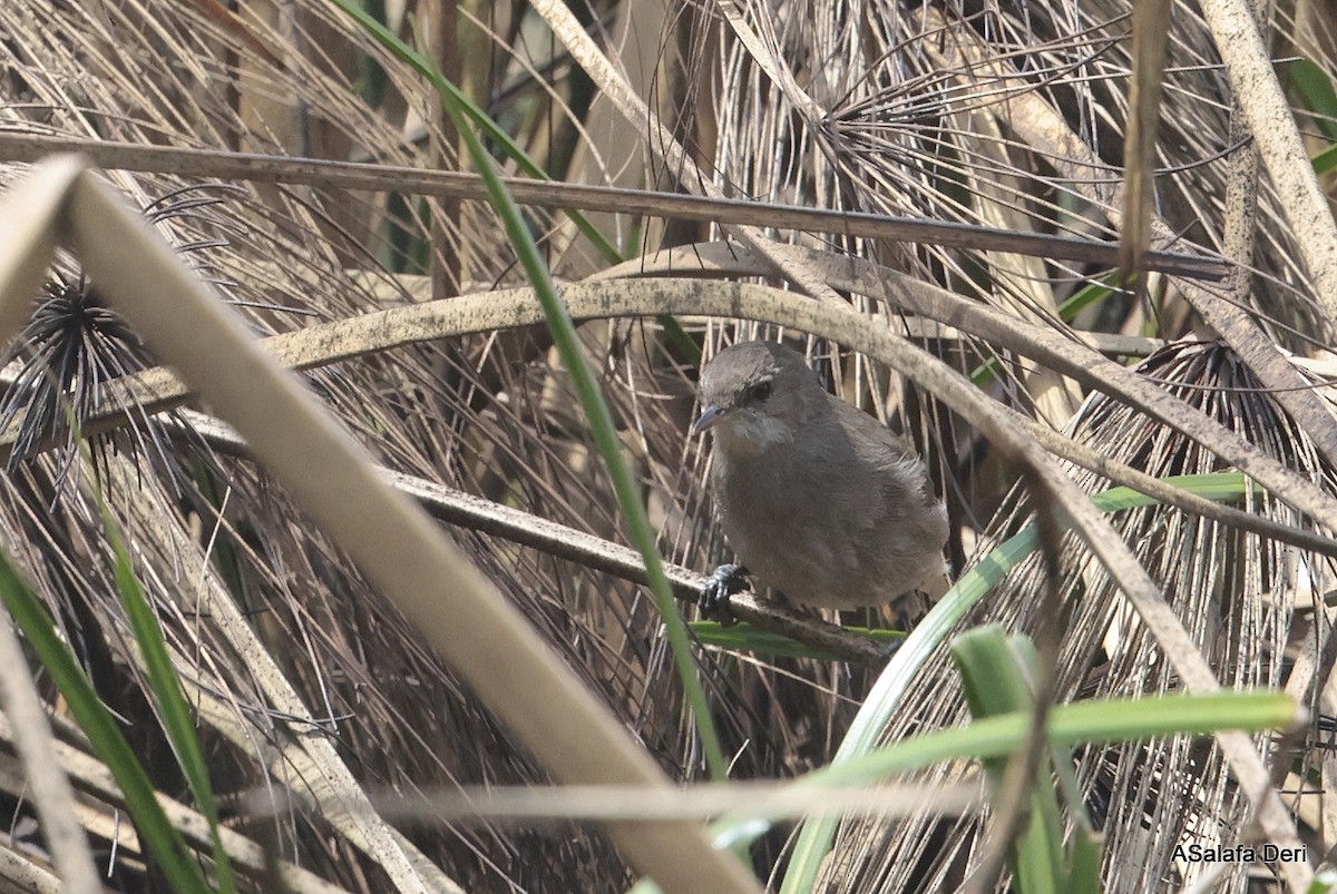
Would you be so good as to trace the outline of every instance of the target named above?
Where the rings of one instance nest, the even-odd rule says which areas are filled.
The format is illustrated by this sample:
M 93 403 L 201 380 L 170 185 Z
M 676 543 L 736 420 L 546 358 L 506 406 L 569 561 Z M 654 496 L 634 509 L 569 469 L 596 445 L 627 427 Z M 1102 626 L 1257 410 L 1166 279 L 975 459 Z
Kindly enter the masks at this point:
M 70 164 L 78 162 L 48 170 L 59 174 Z M 74 254 L 107 299 L 237 425 L 443 659 L 560 780 L 667 784 L 493 585 L 421 509 L 370 470 L 348 433 L 120 202 L 88 174 L 75 178 L 62 215 Z M 138 263 L 127 266 L 127 258 Z M 254 401 L 257 393 L 269 400 Z M 329 492 L 330 481 L 341 484 L 340 493 Z M 443 616 L 455 623 L 440 624 Z M 509 660 L 499 664 L 497 655 Z M 755 890 L 742 866 L 714 851 L 691 825 L 611 825 L 610 834 L 666 886 Z

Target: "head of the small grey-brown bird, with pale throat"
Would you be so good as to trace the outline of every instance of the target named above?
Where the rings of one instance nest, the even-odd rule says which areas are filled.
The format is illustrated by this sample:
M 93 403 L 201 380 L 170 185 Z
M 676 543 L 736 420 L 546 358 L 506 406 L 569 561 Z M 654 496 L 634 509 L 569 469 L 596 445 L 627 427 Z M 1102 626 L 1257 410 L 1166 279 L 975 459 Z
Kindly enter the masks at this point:
M 802 354 L 777 342 L 742 342 L 701 370 L 702 412 L 691 432 L 713 432 L 730 452 L 759 453 L 792 442 L 825 401 Z

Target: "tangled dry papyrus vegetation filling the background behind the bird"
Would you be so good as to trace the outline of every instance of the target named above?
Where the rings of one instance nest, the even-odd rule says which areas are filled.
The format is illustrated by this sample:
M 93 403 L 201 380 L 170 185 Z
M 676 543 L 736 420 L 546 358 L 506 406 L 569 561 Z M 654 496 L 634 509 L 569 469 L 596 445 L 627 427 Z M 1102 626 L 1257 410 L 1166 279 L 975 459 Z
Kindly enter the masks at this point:
M 1255 476 L 1266 493 L 1238 508 L 1271 528 L 1245 531 L 1242 513 L 1203 517 L 1201 506 L 1138 509 L 1114 524 L 1187 629 L 1186 649 L 1201 652 L 1223 686 L 1285 688 L 1309 707 L 1309 728 L 1285 743 L 1258 736 L 1255 751 L 1310 859 L 1337 845 L 1337 764 L 1324 722 L 1334 714 L 1326 599 L 1337 425 L 1324 390 L 1309 388 L 1337 373 L 1326 349 L 1337 229 L 1324 195 L 1306 186 L 1308 156 L 1337 139 L 1324 7 L 1259 7 L 1275 61 L 1255 59 L 1253 69 L 1249 48 L 1227 41 L 1255 33 L 1242 4 L 1214 5 L 1205 17 L 1179 3 L 1166 11 L 1169 24 L 1152 20 L 1169 36 L 1165 63 L 1152 68 L 1163 75 L 1162 115 L 1132 176 L 1127 4 L 365 8 L 436 59 L 551 178 L 525 200 L 527 220 L 554 274 L 600 283 L 615 309 L 579 331 L 670 563 L 702 572 L 726 557 L 702 489 L 703 445 L 686 436 L 695 351 L 781 333 L 693 313 L 691 291 L 658 307 L 673 319 L 655 317 L 656 287 L 647 293 L 644 277 L 685 279 L 717 305 L 722 278 L 785 286 L 814 307 L 849 305 L 868 331 L 905 337 L 972 377 L 977 396 L 1015 410 L 1007 420 L 1017 437 L 1042 437 L 1062 457 L 1051 468 L 1086 490 L 1128 482 L 1127 466 L 1157 477 L 1227 468 Z M 305 369 L 322 404 L 406 486 L 445 485 L 529 517 L 516 523 L 524 536 L 480 528 L 467 508 L 433 509 L 662 771 L 702 780 L 652 601 L 618 561 L 576 549 L 586 543 L 578 535 L 623 543 L 623 521 L 547 330 L 492 323 L 381 338 L 357 325 L 432 299 L 449 318 L 455 295 L 527 285 L 476 182 L 412 180 L 402 170 L 471 168 L 429 86 L 325 0 L 25 0 L 0 4 L 0 36 L 4 180 L 83 142 L 75 147 L 255 333 L 349 321 L 285 362 Z M 1269 96 L 1289 108 L 1267 106 Z M 1304 152 L 1269 142 L 1293 128 Z M 495 140 L 489 148 L 507 172 L 521 172 Z M 286 163 L 297 156 L 365 167 Z M 1152 168 L 1139 216 L 1126 210 L 1139 207 L 1124 204 L 1126 191 L 1146 186 L 1139 171 Z M 628 192 L 591 198 L 578 184 Z M 737 202 L 668 211 L 663 199 L 635 194 L 643 190 Z M 892 238 L 866 220 L 796 225 L 773 203 L 1082 242 L 989 241 L 972 230 Z M 583 207 L 620 257 L 562 211 Z M 1114 246 L 1139 231 L 1151 250 L 1195 263 L 1150 273 L 1138 290 L 1114 287 Z M 1147 265 L 1163 267 L 1165 258 Z M 658 289 L 668 295 L 667 285 Z M 630 886 L 638 874 L 595 823 L 447 822 L 417 800 L 548 778 L 246 445 L 197 412 L 209 406 L 185 409 L 186 397 L 162 381 L 108 386 L 155 358 L 104 305 L 98 283 L 63 255 L 9 355 L 0 529 L 159 790 L 186 796 L 116 597 L 95 481 L 198 708 L 225 821 L 301 867 L 285 877 L 294 890 Z M 646 310 L 616 311 L 632 305 Z M 809 339 L 801 327 L 785 335 L 810 349 L 833 388 L 925 452 L 952 513 L 955 571 L 1029 517 L 1034 500 L 1013 489 L 1019 454 L 1000 453 L 944 397 L 947 386 L 912 386 L 849 343 Z M 1134 362 L 1138 376 L 1127 370 Z M 70 404 L 82 430 L 96 434 L 91 462 L 74 446 Z M 150 418 L 156 412 L 167 414 Z M 341 481 L 328 489 L 337 498 Z M 571 529 L 548 537 L 570 548 L 536 545 L 540 520 Z M 1132 577 L 1115 579 L 1080 537 L 1066 541 L 1062 572 L 1058 700 L 1185 686 L 1178 656 L 1167 657 L 1123 597 Z M 1044 583 L 1038 563 L 1024 564 L 961 627 L 1003 620 L 1034 632 Z M 718 649 L 701 649 L 698 664 L 735 779 L 826 764 L 876 679 L 852 661 Z M 57 732 L 78 751 L 78 731 L 47 695 Z M 967 718 L 939 651 L 882 735 Z M 1218 743 L 1174 736 L 1078 756 L 1087 807 L 1106 835 L 1108 890 L 1198 878 L 1202 866 L 1174 859 L 1185 841 L 1270 834 L 1251 825 L 1259 802 L 1237 784 Z M 945 766 L 924 782 L 967 774 Z M 350 822 L 338 799 L 357 787 L 421 812 L 401 815 L 400 830 L 361 814 Z M 35 873 L 5 883 L 53 885 L 41 875 L 24 770 L 11 755 L 0 760 L 0 812 L 13 818 L 0 862 Z M 277 821 L 254 815 L 246 796 L 275 791 L 291 792 L 291 810 Z M 79 814 L 99 866 L 114 867 L 106 883 L 163 890 L 108 800 L 86 795 Z M 980 859 L 984 822 L 932 807 L 881 825 L 848 819 L 821 890 L 955 889 Z M 761 879 L 782 873 L 787 831 L 754 846 Z M 1222 869 L 1211 883 L 1249 883 L 1247 866 Z M 273 890 L 263 871 L 243 874 L 243 886 Z M 1277 883 L 1294 887 L 1297 878 Z

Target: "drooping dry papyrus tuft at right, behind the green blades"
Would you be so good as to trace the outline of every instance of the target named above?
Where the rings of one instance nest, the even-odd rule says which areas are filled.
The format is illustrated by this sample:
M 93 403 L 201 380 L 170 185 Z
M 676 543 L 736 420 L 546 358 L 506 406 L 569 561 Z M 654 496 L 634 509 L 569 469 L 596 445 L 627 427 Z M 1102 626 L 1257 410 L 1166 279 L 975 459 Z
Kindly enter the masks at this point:
M 1139 370 L 1270 456 L 1329 489 L 1337 486 L 1334 470 L 1317 457 L 1304 432 L 1218 341 L 1177 342 L 1150 357 Z M 1106 445 L 1111 456 L 1157 476 L 1221 468 L 1219 460 L 1201 446 L 1139 422 L 1128 408 L 1104 397 L 1087 402 L 1074 420 L 1072 433 L 1087 444 Z M 1091 490 L 1102 486 L 1091 473 L 1078 480 Z M 1266 494 L 1249 497 L 1249 504 L 1254 512 L 1294 521 L 1293 510 Z M 991 527 L 988 543 L 1015 532 L 1027 517 L 1024 494 L 1013 494 L 1009 509 Z M 1332 585 L 1330 560 L 1159 505 L 1120 513 L 1116 527 L 1165 587 L 1167 600 L 1223 686 L 1286 683 L 1293 616 L 1320 609 L 1312 600 Z M 1178 690 L 1178 678 L 1146 627 L 1075 541 L 1067 544 L 1063 567 L 1067 633 L 1056 668 L 1060 699 Z M 1034 629 L 1043 587 L 1042 569 L 1028 561 L 963 624 L 1003 620 L 1016 629 Z M 1321 609 L 1317 617 L 1324 617 Z M 1320 636 L 1325 633 L 1322 624 Z M 955 678 L 943 659 L 927 668 L 902 704 L 900 716 L 905 719 L 888 730 L 888 738 L 960 722 L 964 707 L 952 695 L 957 690 Z M 1321 756 L 1316 752 L 1314 759 Z M 1177 845 L 1219 847 L 1242 841 L 1247 816 L 1241 792 L 1219 754 L 1201 740 L 1175 738 L 1090 748 L 1078 755 L 1078 775 L 1087 810 L 1104 834 L 1106 890 L 1185 883 L 1203 867 L 1175 863 Z M 834 890 L 937 890 L 945 878 L 968 871 L 963 861 L 972 853 L 976 822 L 943 827 L 935 827 L 932 819 L 924 823 L 872 839 L 866 827 L 852 825 L 838 847 L 854 857 L 844 862 L 845 875 Z M 936 845 L 925 849 L 931 838 Z M 1239 865 L 1230 873 L 1229 883 L 1235 886 L 1231 890 L 1242 890 L 1246 869 Z

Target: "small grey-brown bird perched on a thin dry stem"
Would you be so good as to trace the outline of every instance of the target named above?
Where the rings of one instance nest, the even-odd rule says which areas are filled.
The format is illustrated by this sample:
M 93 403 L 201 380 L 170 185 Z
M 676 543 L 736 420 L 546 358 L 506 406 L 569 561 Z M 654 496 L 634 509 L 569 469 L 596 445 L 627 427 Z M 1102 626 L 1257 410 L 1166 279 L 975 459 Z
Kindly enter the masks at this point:
M 710 490 L 742 565 L 702 591 L 729 617 L 743 575 L 802 605 L 881 605 L 943 573 L 947 509 L 923 460 L 876 418 L 829 394 L 802 354 L 742 342 L 701 370 Z

